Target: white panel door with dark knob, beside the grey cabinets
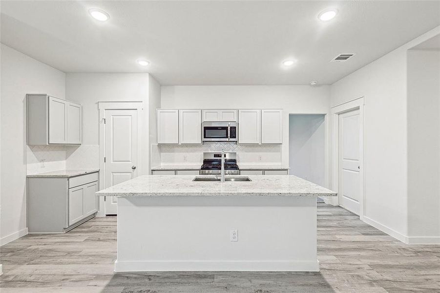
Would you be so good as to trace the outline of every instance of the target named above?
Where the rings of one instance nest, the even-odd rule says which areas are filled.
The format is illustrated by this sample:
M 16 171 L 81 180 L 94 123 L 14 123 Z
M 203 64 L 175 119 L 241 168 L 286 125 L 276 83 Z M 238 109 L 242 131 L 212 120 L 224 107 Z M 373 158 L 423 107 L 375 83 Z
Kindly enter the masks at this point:
M 105 188 L 137 176 L 137 110 L 105 110 Z M 105 214 L 117 214 L 117 198 L 105 198 Z

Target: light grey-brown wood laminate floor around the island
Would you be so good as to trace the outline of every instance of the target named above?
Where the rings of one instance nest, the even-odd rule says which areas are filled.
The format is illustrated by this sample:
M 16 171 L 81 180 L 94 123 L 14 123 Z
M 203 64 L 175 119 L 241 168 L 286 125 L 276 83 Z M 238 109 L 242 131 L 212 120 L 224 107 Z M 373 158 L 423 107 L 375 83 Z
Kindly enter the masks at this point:
M 116 217 L 27 235 L 0 249 L 0 292 L 440 292 L 440 246 L 403 244 L 325 204 L 318 204 L 320 272 L 115 273 L 115 258 Z

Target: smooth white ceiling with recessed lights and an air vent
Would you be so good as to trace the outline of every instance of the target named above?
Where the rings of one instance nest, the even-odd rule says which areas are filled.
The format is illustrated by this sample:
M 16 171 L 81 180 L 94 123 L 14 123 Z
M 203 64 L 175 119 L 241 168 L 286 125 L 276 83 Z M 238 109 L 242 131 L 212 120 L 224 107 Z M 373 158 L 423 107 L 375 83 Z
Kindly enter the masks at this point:
M 331 7 L 336 18 L 319 21 Z M 1 1 L 2 43 L 64 72 L 150 72 L 161 84 L 332 84 L 438 25 L 440 1 L 422 0 Z M 330 63 L 339 53 L 357 54 Z

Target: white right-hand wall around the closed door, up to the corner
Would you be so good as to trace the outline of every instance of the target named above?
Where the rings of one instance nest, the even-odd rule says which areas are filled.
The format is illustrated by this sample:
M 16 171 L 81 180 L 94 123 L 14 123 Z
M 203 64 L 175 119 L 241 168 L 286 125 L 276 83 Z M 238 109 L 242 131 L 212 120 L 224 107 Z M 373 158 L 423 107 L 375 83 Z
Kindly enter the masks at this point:
M 439 32 L 437 27 L 331 86 L 332 106 L 365 99 L 364 220 L 402 241 L 408 235 L 407 50 Z

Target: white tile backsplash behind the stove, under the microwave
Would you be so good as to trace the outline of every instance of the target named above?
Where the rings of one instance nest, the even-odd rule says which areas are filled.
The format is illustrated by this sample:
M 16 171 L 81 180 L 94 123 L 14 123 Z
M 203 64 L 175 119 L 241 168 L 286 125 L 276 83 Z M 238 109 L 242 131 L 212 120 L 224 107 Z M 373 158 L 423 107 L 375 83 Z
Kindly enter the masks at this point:
M 205 142 L 203 145 L 155 145 L 152 162 L 163 165 L 201 164 L 203 152 L 221 151 L 237 153 L 238 164 L 281 164 L 281 145 L 237 145 L 231 142 Z M 160 165 L 153 164 L 151 166 Z

